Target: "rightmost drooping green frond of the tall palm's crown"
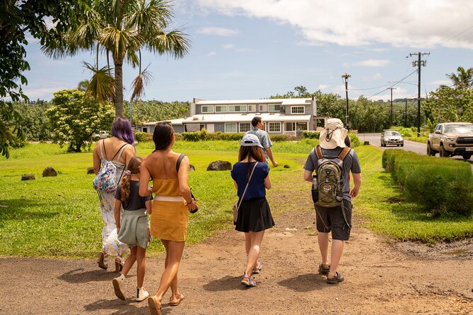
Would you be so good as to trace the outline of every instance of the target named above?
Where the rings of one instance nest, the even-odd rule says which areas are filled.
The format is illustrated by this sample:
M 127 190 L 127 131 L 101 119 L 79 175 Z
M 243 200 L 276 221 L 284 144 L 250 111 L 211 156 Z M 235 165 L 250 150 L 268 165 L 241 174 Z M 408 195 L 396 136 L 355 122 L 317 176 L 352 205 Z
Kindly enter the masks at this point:
M 169 54 L 175 59 L 182 58 L 189 53 L 191 42 L 188 35 L 180 30 L 171 30 L 168 33 L 159 32 L 151 37 L 148 48 L 158 54 Z

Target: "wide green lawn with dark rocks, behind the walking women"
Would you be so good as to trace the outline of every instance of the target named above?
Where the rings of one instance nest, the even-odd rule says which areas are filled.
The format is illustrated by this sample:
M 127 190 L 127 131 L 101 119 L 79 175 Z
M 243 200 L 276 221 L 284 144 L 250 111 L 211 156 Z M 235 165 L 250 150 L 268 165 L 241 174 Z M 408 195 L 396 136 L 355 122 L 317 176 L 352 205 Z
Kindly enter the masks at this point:
M 281 145 L 284 150 L 308 152 L 310 143 Z M 195 172 L 189 172 L 189 184 L 200 199 L 199 212 L 189 214 L 187 244 L 201 242 L 223 228 L 232 228 L 231 206 L 237 200 L 229 171 L 206 171 L 209 162 L 238 159 L 238 141 L 177 142 L 175 151 L 189 156 Z M 301 148 L 303 146 L 303 148 Z M 220 150 L 218 150 L 220 149 Z M 137 145 L 139 156 L 153 150 L 152 143 Z M 92 188 L 92 153 L 64 154 L 54 144 L 30 144 L 12 150 L 8 160 L 0 160 L 0 254 L 19 256 L 90 258 L 101 248 L 103 220 L 97 193 Z M 302 182 L 301 161 L 306 153 L 278 153 L 281 167 L 271 170 L 274 189 L 307 190 Z M 282 166 L 289 165 L 285 169 Z M 42 170 L 54 167 L 57 177 L 42 177 Z M 34 181 L 21 181 L 22 174 L 35 174 Z M 291 185 L 285 185 L 291 180 Z M 308 194 L 308 191 L 305 191 Z M 283 211 L 290 204 L 274 209 Z M 159 254 L 159 241 L 151 243 L 150 256 Z

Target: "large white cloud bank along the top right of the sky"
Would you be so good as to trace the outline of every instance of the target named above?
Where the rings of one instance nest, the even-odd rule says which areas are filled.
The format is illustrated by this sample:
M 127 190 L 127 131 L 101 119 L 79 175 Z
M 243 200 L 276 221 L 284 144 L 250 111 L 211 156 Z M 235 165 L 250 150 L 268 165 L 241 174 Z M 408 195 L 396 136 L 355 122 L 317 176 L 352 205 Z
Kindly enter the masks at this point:
M 298 28 L 308 44 L 473 49 L 471 12 L 465 0 L 198 0 L 203 11 L 269 18 Z

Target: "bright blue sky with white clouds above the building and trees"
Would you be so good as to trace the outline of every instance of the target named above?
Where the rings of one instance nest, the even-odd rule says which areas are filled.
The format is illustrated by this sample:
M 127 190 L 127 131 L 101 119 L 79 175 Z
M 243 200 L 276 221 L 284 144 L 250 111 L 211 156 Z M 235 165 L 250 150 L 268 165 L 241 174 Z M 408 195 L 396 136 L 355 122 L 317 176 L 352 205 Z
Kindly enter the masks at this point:
M 416 97 L 416 57 L 406 57 L 430 52 L 422 57 L 425 97 L 450 85 L 447 73 L 473 66 L 469 0 L 175 0 L 173 6 L 172 27 L 189 34 L 192 48 L 178 60 L 143 54 L 153 74 L 146 100 L 259 99 L 297 85 L 344 95 L 344 73 L 351 75 L 350 98 L 388 100 L 393 85 L 394 98 Z M 54 60 L 29 42 L 30 99 L 50 100 L 90 78 L 81 61 L 93 63 L 93 54 Z M 124 66 L 125 99 L 136 74 Z

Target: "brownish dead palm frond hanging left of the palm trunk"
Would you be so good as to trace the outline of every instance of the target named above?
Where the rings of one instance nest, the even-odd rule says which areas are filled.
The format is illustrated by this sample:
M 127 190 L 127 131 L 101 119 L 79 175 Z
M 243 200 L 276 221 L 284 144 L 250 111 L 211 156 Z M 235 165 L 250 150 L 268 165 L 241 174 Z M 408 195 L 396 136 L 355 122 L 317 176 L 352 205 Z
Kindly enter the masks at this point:
M 109 75 L 108 67 L 99 69 L 85 61 L 83 65 L 93 73 L 86 94 L 102 101 L 112 100 L 115 97 L 115 78 Z

